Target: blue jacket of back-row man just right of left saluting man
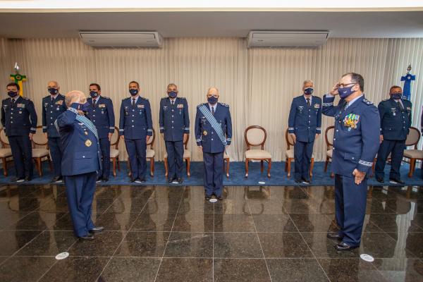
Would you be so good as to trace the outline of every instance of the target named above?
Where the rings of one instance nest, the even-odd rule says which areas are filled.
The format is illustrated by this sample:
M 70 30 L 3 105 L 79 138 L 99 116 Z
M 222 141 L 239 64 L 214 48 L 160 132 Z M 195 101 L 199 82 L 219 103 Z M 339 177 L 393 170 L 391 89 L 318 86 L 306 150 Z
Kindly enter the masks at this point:
M 88 98 L 90 109 L 87 115 L 90 117 L 92 123 L 97 128 L 99 138 L 108 138 L 109 133 L 114 133 L 114 110 L 113 103 L 108 97 L 100 95 L 95 103 L 95 108 L 92 106 L 92 98 Z

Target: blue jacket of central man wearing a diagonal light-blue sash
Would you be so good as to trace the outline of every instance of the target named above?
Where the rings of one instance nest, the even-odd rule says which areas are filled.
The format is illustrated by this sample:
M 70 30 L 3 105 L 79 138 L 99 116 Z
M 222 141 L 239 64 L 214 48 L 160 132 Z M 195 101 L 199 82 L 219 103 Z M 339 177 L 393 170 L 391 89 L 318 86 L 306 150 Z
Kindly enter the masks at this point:
M 212 125 L 207 121 L 207 118 L 200 111 L 200 106 L 205 105 L 210 111 L 208 103 L 197 106 L 197 114 L 195 115 L 195 140 L 198 146 L 202 146 L 202 151 L 205 153 L 220 153 L 225 150 L 223 142 L 221 142 L 219 135 L 212 128 Z M 223 103 L 217 103 L 214 118 L 221 125 L 223 134 L 226 135 L 226 145 L 231 145 L 232 141 L 232 119 L 229 106 Z

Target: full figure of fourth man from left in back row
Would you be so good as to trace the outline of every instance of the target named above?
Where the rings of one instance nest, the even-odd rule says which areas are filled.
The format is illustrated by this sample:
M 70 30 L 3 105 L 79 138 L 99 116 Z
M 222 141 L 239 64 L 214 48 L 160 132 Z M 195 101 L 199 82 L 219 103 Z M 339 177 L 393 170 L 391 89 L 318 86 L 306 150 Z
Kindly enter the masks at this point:
M 130 182 L 145 183 L 147 142 L 153 135 L 152 111 L 148 99 L 140 97 L 140 85 L 129 83 L 130 97 L 122 100 L 119 135 L 125 140 L 131 177 Z

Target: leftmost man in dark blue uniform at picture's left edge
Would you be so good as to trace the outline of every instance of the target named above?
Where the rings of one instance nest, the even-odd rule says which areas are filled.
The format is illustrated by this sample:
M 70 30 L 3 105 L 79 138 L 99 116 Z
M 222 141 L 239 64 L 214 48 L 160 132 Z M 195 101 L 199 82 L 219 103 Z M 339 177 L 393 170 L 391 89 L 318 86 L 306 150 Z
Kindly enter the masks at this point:
M 20 87 L 11 82 L 7 86 L 9 98 L 1 102 L 1 125 L 11 145 L 16 177 L 12 181 L 32 180 L 32 135 L 37 131 L 34 103 L 19 95 Z

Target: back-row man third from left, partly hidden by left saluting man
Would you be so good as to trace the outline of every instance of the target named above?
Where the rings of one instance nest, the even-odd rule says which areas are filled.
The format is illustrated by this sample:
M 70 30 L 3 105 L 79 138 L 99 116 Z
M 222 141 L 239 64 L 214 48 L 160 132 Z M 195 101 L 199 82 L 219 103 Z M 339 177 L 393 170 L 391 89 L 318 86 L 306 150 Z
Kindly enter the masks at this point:
M 107 182 L 110 174 L 110 139 L 114 133 L 113 103 L 109 97 L 102 95 L 102 88 L 97 83 L 90 84 L 90 97 L 87 102 L 90 104 L 87 116 L 97 128 L 102 152 L 103 170 L 97 176 L 97 182 Z

